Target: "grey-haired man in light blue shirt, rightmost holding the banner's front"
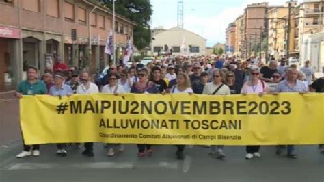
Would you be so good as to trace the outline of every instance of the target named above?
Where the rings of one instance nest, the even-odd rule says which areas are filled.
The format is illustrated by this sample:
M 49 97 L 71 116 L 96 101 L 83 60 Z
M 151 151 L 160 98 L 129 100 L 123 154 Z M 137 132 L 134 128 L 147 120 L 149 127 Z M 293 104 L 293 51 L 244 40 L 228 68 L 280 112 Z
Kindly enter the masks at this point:
M 304 94 L 308 92 L 305 84 L 297 79 L 297 69 L 288 68 L 286 74 L 286 80 L 280 81 L 280 83 L 278 83 L 278 86 L 275 88 L 273 94 L 278 94 L 278 92 L 298 92 L 299 94 Z M 280 155 L 282 153 L 282 148 L 284 148 L 284 146 L 277 147 L 277 155 Z M 297 159 L 297 155 L 295 154 L 295 146 L 288 145 L 287 152 L 288 158 Z

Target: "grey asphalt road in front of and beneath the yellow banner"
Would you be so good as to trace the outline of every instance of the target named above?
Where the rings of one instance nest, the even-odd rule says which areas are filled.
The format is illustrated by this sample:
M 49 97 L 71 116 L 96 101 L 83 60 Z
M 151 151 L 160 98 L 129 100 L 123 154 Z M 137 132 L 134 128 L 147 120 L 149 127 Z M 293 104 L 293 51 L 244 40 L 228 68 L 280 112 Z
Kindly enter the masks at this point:
M 135 145 L 107 157 L 107 148 L 95 144 L 94 157 L 68 147 L 68 156 L 55 155 L 55 145 L 41 146 L 40 157 L 16 159 L 16 142 L 0 151 L 0 181 L 324 181 L 324 155 L 317 146 L 297 146 L 297 159 L 276 156 L 273 146 L 263 146 L 261 158 L 245 160 L 245 147 L 226 146 L 226 159 L 214 159 L 209 148 L 187 146 L 185 160 L 175 158 L 175 146 L 153 146 L 152 157 L 137 157 Z

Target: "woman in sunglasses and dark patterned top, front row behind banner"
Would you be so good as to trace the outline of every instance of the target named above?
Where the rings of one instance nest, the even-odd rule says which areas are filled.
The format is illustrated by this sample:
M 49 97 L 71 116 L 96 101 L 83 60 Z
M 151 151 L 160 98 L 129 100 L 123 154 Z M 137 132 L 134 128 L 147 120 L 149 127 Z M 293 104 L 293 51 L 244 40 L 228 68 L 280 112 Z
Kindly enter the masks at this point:
M 147 68 L 141 68 L 138 71 L 138 81 L 135 82 L 131 88 L 131 93 L 135 93 L 135 94 L 157 94 L 159 93 L 159 90 L 157 88 L 157 86 L 155 85 L 155 83 L 153 83 L 152 81 L 148 80 L 148 69 Z M 148 156 L 152 155 L 153 151 L 152 151 L 152 147 L 150 144 L 137 144 L 137 148 L 138 148 L 138 153 L 137 156 L 138 157 L 142 157 L 145 155 L 145 151 L 146 154 Z

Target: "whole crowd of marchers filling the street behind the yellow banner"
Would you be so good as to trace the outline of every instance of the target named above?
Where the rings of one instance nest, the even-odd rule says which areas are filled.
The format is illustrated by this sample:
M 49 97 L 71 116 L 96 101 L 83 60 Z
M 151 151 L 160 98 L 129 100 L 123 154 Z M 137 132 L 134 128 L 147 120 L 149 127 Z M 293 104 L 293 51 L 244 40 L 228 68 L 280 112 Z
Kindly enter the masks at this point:
M 316 79 L 310 61 L 297 69 L 297 65 L 286 65 L 285 59 L 271 59 L 269 65 L 258 58 L 245 61 L 237 57 L 161 57 L 147 65 L 133 62 L 132 66 L 109 64 L 105 76 L 92 83 L 92 75 L 87 71 L 69 69 L 61 60 L 57 60 L 53 73 L 45 73 L 38 80 L 38 70 L 29 67 L 27 80 L 22 81 L 16 90 L 16 96 L 50 94 L 53 96 L 71 96 L 72 94 L 278 94 L 280 92 L 324 92 L 324 76 Z M 80 148 L 80 144 L 74 144 Z M 93 157 L 93 143 L 85 143 L 83 155 Z M 124 150 L 122 144 L 105 144 L 107 155 L 113 156 L 114 150 Z M 176 157 L 184 159 L 184 145 L 177 145 Z M 218 159 L 226 157 L 224 146 L 206 146 L 211 155 Z M 137 156 L 152 155 L 150 144 L 137 144 Z M 296 159 L 293 145 L 277 146 L 276 154 L 281 155 L 287 148 L 286 156 Z M 246 146 L 245 159 L 260 157 L 260 146 Z M 324 154 L 323 144 L 319 150 Z M 67 155 L 67 144 L 57 144 L 57 155 Z M 40 155 L 40 146 L 24 145 L 17 157 Z

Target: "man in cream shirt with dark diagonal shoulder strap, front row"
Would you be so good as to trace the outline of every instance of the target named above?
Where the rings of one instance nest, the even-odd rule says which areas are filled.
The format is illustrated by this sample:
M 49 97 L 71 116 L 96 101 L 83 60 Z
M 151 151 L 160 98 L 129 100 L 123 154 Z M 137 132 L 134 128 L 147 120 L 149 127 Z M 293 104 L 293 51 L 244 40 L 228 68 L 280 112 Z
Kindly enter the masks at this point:
M 222 70 L 213 71 L 213 82 L 204 86 L 202 94 L 208 95 L 230 95 L 230 88 L 223 83 L 224 72 Z M 217 148 L 217 151 L 216 151 Z M 224 146 L 211 146 L 211 155 L 215 155 L 217 159 L 224 159 L 226 155 L 223 153 Z

